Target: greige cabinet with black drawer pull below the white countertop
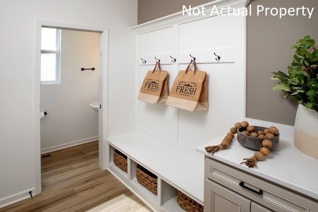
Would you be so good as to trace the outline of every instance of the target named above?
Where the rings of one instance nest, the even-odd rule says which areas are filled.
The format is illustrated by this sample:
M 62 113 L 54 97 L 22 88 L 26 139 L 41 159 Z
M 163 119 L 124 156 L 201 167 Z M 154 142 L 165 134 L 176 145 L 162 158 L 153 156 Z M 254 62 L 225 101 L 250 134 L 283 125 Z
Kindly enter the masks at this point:
M 318 212 L 318 202 L 205 157 L 204 212 Z

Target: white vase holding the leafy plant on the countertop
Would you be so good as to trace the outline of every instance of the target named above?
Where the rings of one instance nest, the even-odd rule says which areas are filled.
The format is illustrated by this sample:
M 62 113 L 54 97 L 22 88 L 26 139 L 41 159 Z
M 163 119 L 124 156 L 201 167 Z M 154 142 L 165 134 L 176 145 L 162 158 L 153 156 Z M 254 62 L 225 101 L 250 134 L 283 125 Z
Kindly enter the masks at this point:
M 295 118 L 294 145 L 305 154 L 318 158 L 318 113 L 301 104 Z

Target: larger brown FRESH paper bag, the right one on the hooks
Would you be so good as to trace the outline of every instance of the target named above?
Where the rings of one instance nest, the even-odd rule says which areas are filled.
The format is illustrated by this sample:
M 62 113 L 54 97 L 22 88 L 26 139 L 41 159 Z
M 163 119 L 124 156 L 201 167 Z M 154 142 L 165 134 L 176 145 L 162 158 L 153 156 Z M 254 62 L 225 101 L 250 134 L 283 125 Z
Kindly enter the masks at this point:
M 194 71 L 190 71 L 193 63 Z M 197 71 L 191 60 L 185 71 L 174 79 L 166 104 L 187 111 L 208 110 L 206 71 Z

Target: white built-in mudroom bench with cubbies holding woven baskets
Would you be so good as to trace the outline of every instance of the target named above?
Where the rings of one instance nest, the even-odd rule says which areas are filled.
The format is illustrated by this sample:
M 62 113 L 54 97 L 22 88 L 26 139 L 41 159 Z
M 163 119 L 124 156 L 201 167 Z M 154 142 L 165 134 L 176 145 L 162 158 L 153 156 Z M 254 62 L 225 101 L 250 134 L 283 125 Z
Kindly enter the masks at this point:
M 108 170 L 154 211 L 184 212 L 177 204 L 177 190 L 203 206 L 204 156 L 195 149 L 180 149 L 141 132 L 107 139 Z M 114 151 L 127 156 L 127 172 L 113 161 Z M 136 179 L 140 164 L 158 177 L 158 194 Z

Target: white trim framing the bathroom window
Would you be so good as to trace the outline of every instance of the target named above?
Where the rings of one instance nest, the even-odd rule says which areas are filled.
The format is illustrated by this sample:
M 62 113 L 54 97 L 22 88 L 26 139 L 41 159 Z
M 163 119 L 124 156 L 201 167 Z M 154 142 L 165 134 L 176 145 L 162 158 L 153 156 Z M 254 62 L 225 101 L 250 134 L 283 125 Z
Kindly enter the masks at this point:
M 43 27 L 43 26 L 42 26 Z M 41 55 L 47 53 L 54 53 L 55 54 L 55 80 L 47 80 L 42 81 L 40 80 L 40 84 L 59 84 L 61 83 L 61 33 L 62 30 L 56 29 L 56 50 L 45 50 L 41 49 Z

